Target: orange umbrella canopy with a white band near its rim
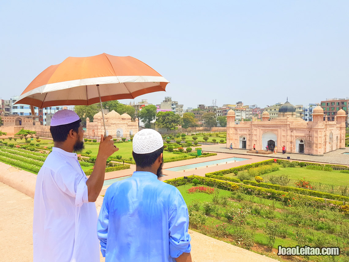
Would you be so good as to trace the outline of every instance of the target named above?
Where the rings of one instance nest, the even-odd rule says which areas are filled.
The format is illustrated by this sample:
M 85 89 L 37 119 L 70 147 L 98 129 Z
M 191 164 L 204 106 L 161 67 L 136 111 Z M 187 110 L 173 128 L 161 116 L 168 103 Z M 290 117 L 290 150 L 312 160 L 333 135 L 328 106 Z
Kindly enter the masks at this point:
M 68 57 L 47 67 L 30 84 L 16 103 L 39 108 L 55 105 L 89 105 L 101 100 L 133 99 L 165 91 L 169 83 L 153 68 L 131 57 L 99 54 Z

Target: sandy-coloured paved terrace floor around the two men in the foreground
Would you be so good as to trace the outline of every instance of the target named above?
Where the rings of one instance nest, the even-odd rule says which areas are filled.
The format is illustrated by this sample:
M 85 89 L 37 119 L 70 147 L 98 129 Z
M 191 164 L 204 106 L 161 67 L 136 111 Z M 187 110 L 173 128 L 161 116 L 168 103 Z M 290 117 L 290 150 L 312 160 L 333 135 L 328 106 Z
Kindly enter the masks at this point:
M 2 262 L 33 261 L 32 223 L 34 201 L 0 183 L 0 257 Z M 96 203 L 97 210 L 98 205 Z M 275 262 L 276 260 L 189 230 L 193 262 Z M 101 261 L 105 259 L 101 255 Z

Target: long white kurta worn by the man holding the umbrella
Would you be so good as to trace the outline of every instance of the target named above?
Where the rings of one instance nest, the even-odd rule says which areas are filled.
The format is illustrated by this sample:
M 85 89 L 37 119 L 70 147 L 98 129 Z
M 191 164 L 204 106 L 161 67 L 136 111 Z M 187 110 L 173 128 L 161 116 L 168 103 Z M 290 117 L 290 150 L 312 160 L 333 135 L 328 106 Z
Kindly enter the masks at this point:
M 99 261 L 97 211 L 77 155 L 53 147 L 35 187 L 34 262 Z

